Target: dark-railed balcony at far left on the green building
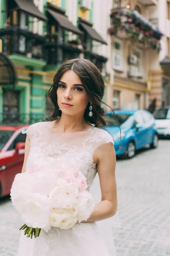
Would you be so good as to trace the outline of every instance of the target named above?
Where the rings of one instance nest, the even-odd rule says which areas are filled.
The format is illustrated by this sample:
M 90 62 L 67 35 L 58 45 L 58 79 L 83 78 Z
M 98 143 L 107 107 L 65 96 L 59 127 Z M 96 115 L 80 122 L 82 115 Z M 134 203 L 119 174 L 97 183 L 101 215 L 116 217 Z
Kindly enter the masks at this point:
M 45 37 L 35 34 L 28 29 L 8 26 L 0 29 L 0 38 L 3 41 L 3 52 L 8 55 L 19 54 L 27 58 L 42 60 L 42 46 Z

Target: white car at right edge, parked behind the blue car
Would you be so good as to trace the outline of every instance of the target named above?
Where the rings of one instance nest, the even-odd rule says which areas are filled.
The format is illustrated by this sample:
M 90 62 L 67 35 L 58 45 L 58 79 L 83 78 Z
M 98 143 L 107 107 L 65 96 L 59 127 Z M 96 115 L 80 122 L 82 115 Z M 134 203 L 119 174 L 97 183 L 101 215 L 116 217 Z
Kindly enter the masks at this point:
M 156 109 L 153 113 L 160 137 L 170 137 L 170 106 Z

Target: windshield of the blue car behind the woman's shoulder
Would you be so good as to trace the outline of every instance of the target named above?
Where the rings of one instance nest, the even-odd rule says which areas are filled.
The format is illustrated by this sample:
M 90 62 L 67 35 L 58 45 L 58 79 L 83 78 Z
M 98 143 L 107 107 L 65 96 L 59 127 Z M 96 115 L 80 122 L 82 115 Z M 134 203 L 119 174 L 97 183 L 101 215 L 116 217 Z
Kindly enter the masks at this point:
M 116 114 L 116 119 L 119 123 L 119 125 L 123 125 L 131 116 L 130 114 Z M 106 115 L 105 120 L 108 123 L 108 126 L 118 126 L 114 115 Z

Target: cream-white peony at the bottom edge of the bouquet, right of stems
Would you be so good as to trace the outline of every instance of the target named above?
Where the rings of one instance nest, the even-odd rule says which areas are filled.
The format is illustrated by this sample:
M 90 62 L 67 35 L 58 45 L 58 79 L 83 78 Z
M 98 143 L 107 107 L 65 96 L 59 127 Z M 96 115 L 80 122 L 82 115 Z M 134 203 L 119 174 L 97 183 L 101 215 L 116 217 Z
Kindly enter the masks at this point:
M 76 216 L 71 215 L 68 209 L 53 209 L 50 212 L 50 224 L 52 227 L 59 227 L 61 229 L 69 229 L 76 224 Z

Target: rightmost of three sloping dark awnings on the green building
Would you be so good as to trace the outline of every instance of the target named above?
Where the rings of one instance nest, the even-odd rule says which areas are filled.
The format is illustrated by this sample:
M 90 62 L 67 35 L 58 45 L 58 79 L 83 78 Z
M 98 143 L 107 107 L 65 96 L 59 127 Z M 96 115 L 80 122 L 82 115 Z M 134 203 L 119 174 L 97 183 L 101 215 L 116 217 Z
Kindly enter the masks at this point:
M 83 22 L 82 19 L 79 21 L 79 25 L 88 33 L 91 39 L 98 41 L 102 44 L 107 44 L 106 41 L 92 28 L 93 24 L 90 22 Z

